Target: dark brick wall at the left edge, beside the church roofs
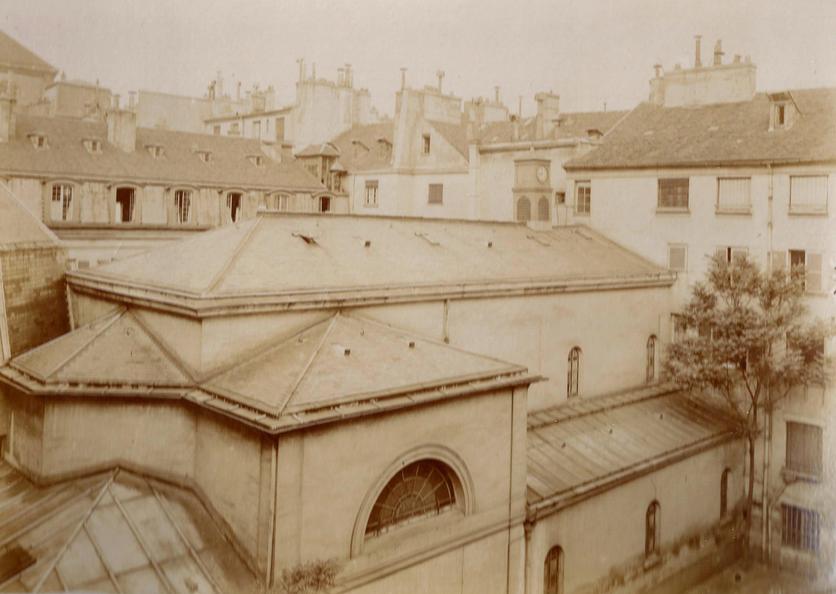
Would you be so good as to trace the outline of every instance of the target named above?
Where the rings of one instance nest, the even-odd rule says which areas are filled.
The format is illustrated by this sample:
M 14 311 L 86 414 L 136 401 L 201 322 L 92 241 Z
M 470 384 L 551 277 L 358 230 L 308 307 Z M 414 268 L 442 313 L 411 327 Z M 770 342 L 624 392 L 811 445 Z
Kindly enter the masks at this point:
M 19 246 L 0 251 L 12 357 L 69 332 L 60 246 Z

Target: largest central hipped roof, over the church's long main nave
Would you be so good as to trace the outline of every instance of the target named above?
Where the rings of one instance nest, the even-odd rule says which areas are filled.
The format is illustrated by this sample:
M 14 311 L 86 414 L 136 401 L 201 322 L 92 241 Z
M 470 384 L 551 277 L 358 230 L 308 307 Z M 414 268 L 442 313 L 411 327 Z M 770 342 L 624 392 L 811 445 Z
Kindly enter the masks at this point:
M 102 287 L 116 282 L 196 301 L 246 296 L 242 304 L 253 307 L 258 296 L 321 301 L 324 295 L 312 292 L 354 295 L 403 287 L 412 294 L 415 287 L 461 283 L 646 281 L 669 274 L 586 227 L 533 231 L 519 223 L 262 212 L 190 240 L 70 272 L 68 281 Z

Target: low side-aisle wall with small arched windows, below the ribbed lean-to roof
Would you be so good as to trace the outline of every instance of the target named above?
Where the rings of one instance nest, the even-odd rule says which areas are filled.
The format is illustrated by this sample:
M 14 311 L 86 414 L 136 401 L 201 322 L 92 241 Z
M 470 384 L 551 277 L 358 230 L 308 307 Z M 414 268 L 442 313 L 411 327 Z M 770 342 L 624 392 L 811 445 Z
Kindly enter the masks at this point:
M 741 505 L 742 454 L 740 442 L 724 444 L 538 520 L 528 546 L 528 594 L 543 592 L 543 564 L 553 546 L 563 548 L 564 594 L 601 591 L 615 577 L 613 572 L 639 582 L 655 581 L 654 570 L 644 569 L 650 503 L 658 501 L 661 507 L 660 554 L 668 561 L 686 541 L 720 521 L 720 481 L 726 468 L 732 469 L 729 514 Z

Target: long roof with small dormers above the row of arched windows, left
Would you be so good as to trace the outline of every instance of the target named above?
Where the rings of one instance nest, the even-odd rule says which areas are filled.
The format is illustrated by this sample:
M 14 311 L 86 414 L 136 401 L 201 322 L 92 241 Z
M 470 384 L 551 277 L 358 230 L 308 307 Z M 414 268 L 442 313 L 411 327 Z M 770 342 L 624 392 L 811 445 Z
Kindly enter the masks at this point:
M 35 149 L 27 138 L 30 132 L 45 133 L 48 148 Z M 85 138 L 101 139 L 102 154 L 90 155 Z M 155 158 L 146 145 L 161 145 L 163 155 Z M 211 162 L 204 163 L 196 150 L 210 151 Z M 151 128 L 136 129 L 136 150 L 126 153 L 108 142 L 107 124 L 19 114 L 15 140 L 0 143 L 0 172 L 324 190 L 299 163 L 279 163 L 264 155 L 264 166 L 257 167 L 247 155 L 263 155 L 259 140 Z

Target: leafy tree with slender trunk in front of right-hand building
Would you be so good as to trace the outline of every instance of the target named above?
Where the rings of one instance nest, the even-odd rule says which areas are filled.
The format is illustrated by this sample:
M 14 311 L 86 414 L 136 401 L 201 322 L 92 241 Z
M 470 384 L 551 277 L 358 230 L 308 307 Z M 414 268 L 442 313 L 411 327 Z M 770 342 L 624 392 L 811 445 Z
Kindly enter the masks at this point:
M 685 337 L 670 345 L 662 365 L 663 377 L 716 406 L 747 440 L 747 550 L 763 418 L 798 388 L 823 384 L 833 368 L 824 342 L 836 328 L 809 320 L 805 278 L 803 267 L 764 273 L 747 256 L 732 264 L 714 256 L 679 318 Z

